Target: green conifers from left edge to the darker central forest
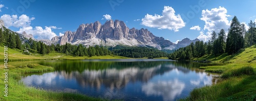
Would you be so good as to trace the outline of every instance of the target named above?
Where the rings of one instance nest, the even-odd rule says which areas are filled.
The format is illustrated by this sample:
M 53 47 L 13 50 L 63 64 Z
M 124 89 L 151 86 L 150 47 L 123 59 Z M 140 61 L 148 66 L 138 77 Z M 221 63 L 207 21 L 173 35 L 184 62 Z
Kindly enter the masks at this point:
M 20 50 L 29 50 L 33 53 L 40 53 L 42 55 L 49 54 L 53 51 L 58 53 L 65 53 L 66 55 L 72 56 L 103 56 L 110 55 L 111 51 L 108 48 L 100 47 L 100 46 L 89 46 L 84 47 L 82 44 L 80 45 L 71 45 L 70 43 L 66 43 L 65 45 L 46 45 L 45 43 L 39 41 L 34 41 L 31 38 L 29 40 L 25 40 L 25 43 L 22 43 L 20 40 L 20 36 L 18 33 L 13 32 L 7 28 L 0 28 L 0 44 L 8 45 L 9 48 L 16 48 Z M 24 52 L 26 54 L 26 52 Z M 28 54 L 28 53 L 27 53 Z

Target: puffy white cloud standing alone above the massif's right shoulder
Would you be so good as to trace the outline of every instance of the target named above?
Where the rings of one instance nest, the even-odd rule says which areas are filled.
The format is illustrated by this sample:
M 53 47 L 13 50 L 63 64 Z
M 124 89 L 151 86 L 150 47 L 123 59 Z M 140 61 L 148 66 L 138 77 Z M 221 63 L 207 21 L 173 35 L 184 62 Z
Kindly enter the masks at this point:
M 141 21 L 142 25 L 148 27 L 156 27 L 158 29 L 170 29 L 174 31 L 179 31 L 179 28 L 185 26 L 185 22 L 182 20 L 180 14 L 176 15 L 175 10 L 169 6 L 164 6 L 162 15 L 146 14 Z

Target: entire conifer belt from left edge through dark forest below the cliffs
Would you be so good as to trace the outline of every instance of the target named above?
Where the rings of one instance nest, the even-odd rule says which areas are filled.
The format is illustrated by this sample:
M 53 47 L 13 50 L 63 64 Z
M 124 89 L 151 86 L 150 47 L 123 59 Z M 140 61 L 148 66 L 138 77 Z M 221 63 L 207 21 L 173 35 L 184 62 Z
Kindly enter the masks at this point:
M 0 44 L 8 45 L 9 48 L 16 48 L 23 50 L 25 54 L 39 53 L 42 55 L 49 54 L 51 52 L 64 53 L 66 55 L 72 56 L 103 56 L 103 55 L 119 55 L 132 58 L 155 58 L 155 57 L 167 57 L 167 53 L 162 52 L 158 49 L 147 48 L 147 47 L 122 47 L 117 46 L 114 50 L 110 51 L 108 48 L 103 46 L 89 46 L 84 47 L 80 45 L 72 45 L 66 43 L 65 45 L 51 44 L 46 45 L 41 41 L 35 41 L 30 39 L 25 39 L 24 43 L 20 40 L 18 33 L 13 32 L 4 27 L 4 30 L 0 28 Z M 112 48 L 113 49 L 113 48 Z M 28 50 L 28 51 L 26 51 Z

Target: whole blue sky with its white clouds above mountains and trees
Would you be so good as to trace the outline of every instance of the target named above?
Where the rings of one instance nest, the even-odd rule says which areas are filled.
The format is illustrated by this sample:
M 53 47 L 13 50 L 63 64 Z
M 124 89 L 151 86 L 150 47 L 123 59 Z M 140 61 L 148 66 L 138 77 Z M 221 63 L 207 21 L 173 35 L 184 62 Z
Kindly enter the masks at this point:
M 171 42 L 184 38 L 205 41 L 213 30 L 224 28 L 227 32 L 233 16 L 246 24 L 256 19 L 253 0 L 6 0 L 0 4 L 5 26 L 26 31 L 36 39 L 51 39 L 67 30 L 75 31 L 82 23 L 104 24 L 111 18 L 124 21 L 129 28 L 147 28 Z

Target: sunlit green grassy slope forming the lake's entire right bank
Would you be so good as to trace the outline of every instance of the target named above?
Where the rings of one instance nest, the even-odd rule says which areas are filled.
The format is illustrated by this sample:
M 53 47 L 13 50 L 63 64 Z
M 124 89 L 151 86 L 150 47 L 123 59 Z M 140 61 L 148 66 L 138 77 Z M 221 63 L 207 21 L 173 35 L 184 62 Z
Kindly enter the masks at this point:
M 196 88 L 180 100 L 256 100 L 256 46 L 245 48 L 237 54 L 204 56 L 195 60 L 227 62 L 226 65 L 202 66 L 208 73 L 220 74 L 219 82 Z

